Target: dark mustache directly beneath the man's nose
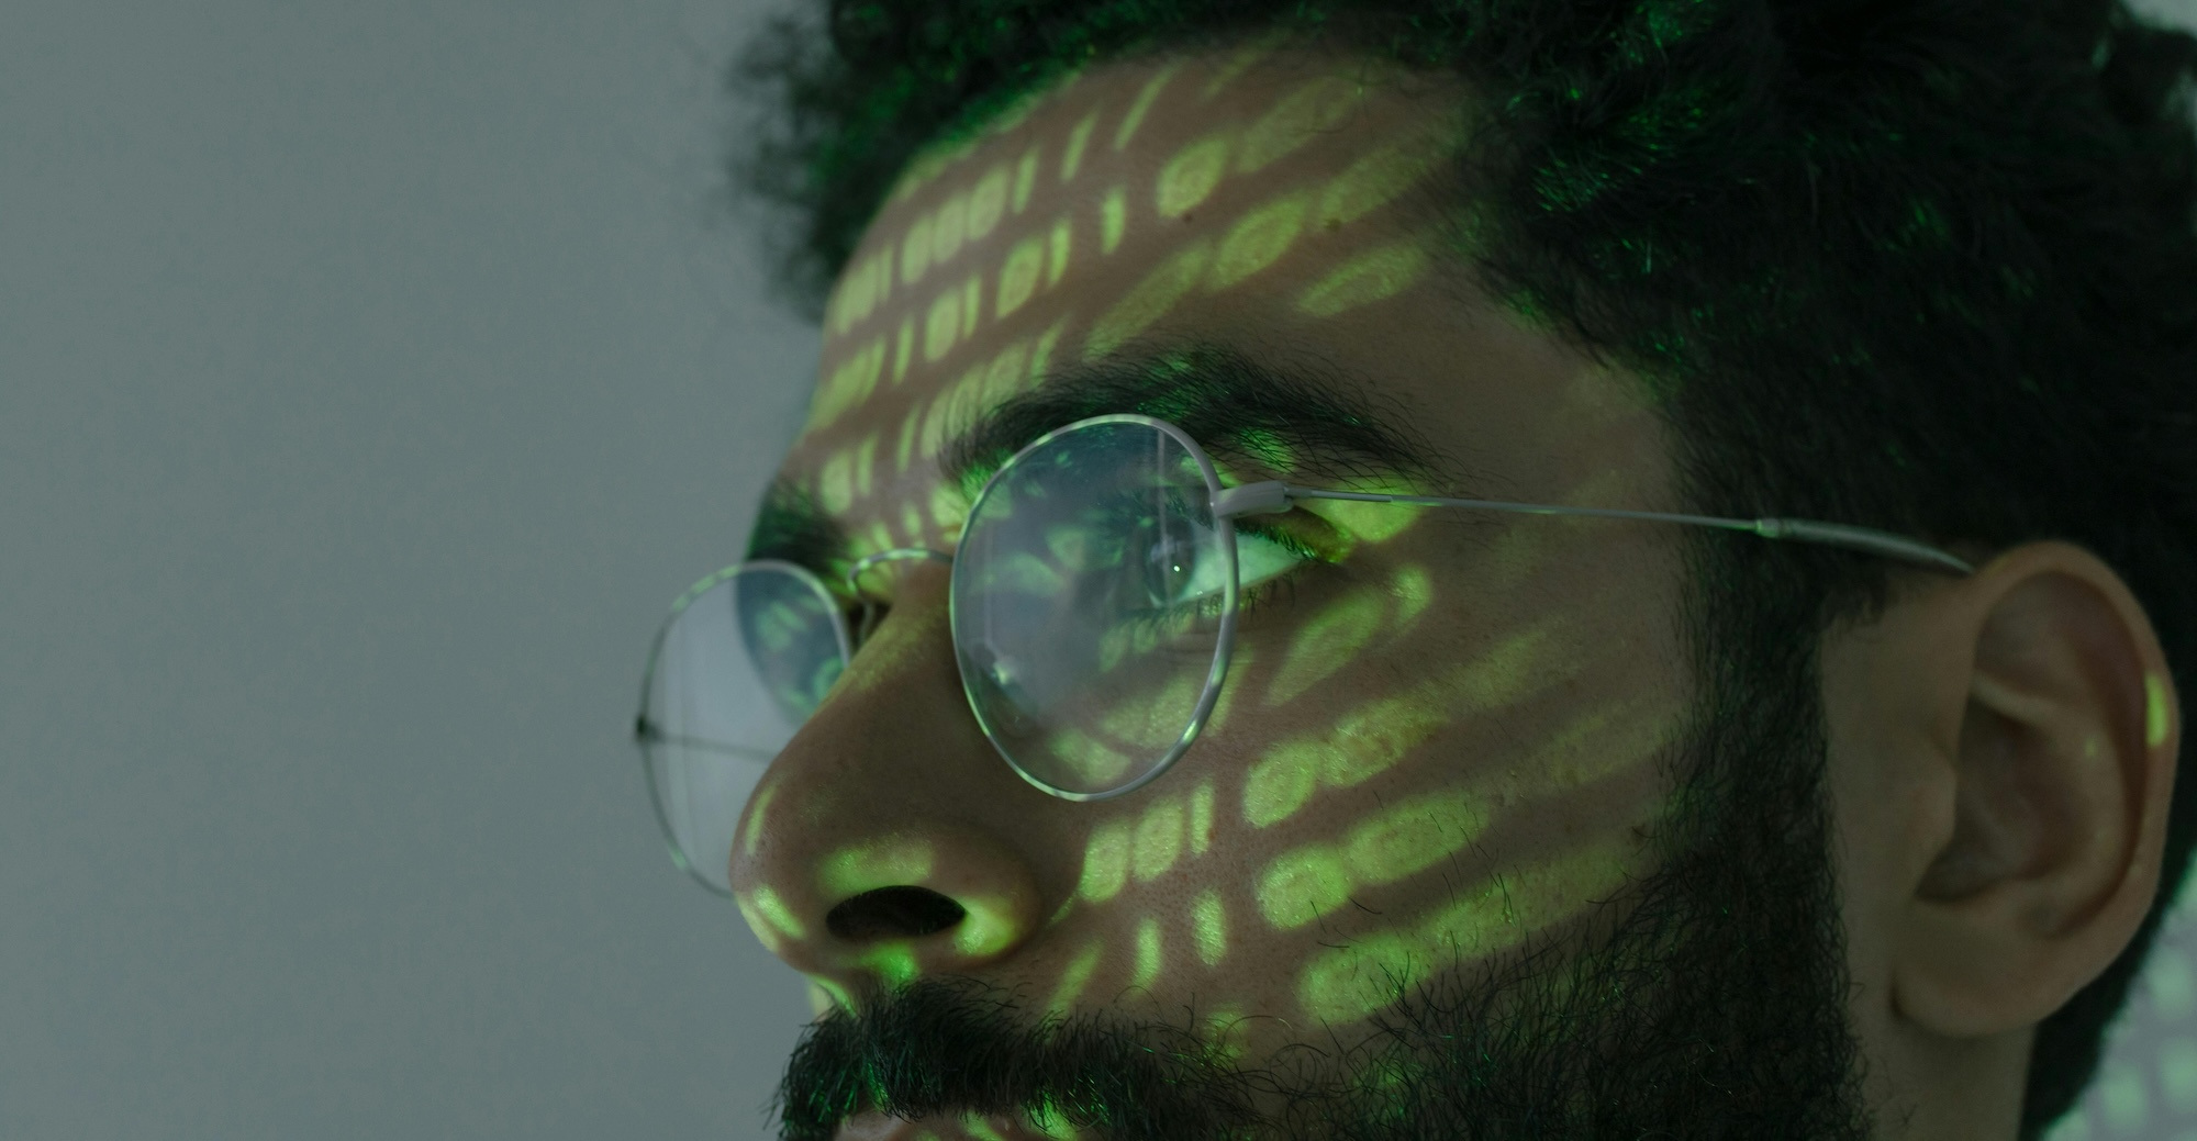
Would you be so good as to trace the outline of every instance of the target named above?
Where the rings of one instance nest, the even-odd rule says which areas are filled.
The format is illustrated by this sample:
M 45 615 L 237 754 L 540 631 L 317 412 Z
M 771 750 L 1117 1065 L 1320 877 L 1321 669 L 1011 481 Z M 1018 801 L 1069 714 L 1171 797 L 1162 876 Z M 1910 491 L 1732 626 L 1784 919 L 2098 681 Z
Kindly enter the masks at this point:
M 1193 1018 L 1195 1023 L 1195 1018 Z M 773 1108 L 784 1141 L 830 1141 L 850 1115 L 1024 1112 L 1112 1139 L 1226 1137 L 1272 1082 L 1182 1027 L 1094 1014 L 1028 1018 L 973 979 L 918 979 L 802 1033 Z

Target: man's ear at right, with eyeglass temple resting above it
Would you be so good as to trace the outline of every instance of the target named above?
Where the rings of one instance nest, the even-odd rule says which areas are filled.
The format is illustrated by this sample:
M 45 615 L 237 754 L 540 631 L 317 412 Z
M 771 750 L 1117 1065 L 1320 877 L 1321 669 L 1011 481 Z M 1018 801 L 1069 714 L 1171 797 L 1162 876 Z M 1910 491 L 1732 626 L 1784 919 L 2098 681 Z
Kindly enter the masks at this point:
M 1938 636 L 1907 669 L 1936 676 L 1914 678 L 1927 733 L 1894 860 L 1909 882 L 1887 884 L 1892 1003 L 1979 1038 L 2037 1025 L 2129 946 L 2182 718 L 2142 606 L 2078 546 L 2023 544 L 1922 606 Z

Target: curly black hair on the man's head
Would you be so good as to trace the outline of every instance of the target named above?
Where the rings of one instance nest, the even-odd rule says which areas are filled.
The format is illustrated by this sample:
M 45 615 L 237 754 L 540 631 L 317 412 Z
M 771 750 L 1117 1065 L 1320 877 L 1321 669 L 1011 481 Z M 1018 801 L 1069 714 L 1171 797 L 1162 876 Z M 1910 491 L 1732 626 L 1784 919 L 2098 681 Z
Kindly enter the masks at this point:
M 1468 81 L 1450 252 L 1643 380 L 1687 509 L 2067 540 L 2193 660 L 2197 39 L 2118 0 L 830 0 L 729 68 L 773 105 L 732 184 L 798 213 L 776 276 L 815 323 L 921 154 L 1090 64 L 1268 35 Z M 1687 557 L 1725 669 L 1889 592 L 1834 551 Z M 2193 843 L 2182 779 L 2151 913 L 2039 1027 L 2023 1139 L 2096 1071 Z

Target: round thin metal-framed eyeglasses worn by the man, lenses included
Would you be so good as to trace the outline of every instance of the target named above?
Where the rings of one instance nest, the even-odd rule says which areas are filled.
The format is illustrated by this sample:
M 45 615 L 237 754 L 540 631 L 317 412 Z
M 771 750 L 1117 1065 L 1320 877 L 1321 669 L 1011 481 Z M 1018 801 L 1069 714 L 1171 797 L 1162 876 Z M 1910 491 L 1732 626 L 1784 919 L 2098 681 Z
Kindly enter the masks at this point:
M 1134 792 L 1197 739 L 1235 645 L 1235 518 L 1296 498 L 1639 518 L 1867 551 L 1969 573 L 1885 531 L 1529 502 L 1386 496 L 1281 481 L 1224 489 L 1173 423 L 1092 417 L 1039 437 L 978 492 L 953 555 L 885 551 L 848 595 L 778 560 L 694 584 L 657 632 L 635 737 L 672 860 L 732 895 L 732 838 L 765 766 L 848 667 L 852 579 L 890 557 L 951 557 L 949 625 L 984 737 L 1028 783 L 1068 801 Z

